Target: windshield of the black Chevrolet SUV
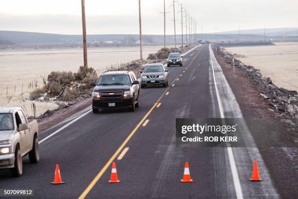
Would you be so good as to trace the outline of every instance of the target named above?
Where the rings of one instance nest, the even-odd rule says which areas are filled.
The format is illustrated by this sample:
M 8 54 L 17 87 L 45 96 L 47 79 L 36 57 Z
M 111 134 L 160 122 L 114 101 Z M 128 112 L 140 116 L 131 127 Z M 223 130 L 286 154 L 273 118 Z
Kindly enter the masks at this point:
M 128 75 L 102 75 L 100 76 L 97 85 L 123 85 L 130 84 Z

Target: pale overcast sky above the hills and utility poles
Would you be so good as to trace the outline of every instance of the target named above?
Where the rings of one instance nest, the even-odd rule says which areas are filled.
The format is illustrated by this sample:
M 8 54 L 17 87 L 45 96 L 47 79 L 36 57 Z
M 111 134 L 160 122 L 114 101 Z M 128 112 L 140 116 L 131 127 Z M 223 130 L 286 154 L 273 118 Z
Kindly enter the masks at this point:
M 167 34 L 173 34 L 172 0 L 166 0 Z M 298 27 L 298 0 L 178 0 L 197 20 L 198 32 Z M 138 0 L 85 0 L 87 34 L 138 34 Z M 163 34 L 164 0 L 142 0 L 143 34 Z M 185 15 L 185 14 L 184 14 Z M 185 17 L 183 17 L 185 22 Z M 188 20 L 188 19 L 187 19 Z M 81 0 L 0 0 L 0 30 L 81 34 Z

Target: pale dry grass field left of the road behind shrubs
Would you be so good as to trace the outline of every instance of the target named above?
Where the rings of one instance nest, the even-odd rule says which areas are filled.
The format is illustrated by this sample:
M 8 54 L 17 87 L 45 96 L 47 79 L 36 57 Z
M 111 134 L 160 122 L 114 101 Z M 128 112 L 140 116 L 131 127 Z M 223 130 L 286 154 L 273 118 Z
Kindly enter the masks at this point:
M 163 46 L 143 46 L 143 57 L 156 53 Z M 169 46 L 171 47 L 171 46 Z M 140 58 L 139 47 L 105 47 L 88 49 L 88 65 L 99 72 L 111 64 L 130 62 Z M 0 107 L 24 105 L 32 115 L 32 101 L 26 100 L 30 82 L 42 86 L 42 77 L 51 71 L 76 72 L 83 65 L 83 49 L 14 50 L 0 51 Z M 42 76 L 42 77 L 41 77 Z M 36 102 L 37 116 L 54 109 L 54 102 Z

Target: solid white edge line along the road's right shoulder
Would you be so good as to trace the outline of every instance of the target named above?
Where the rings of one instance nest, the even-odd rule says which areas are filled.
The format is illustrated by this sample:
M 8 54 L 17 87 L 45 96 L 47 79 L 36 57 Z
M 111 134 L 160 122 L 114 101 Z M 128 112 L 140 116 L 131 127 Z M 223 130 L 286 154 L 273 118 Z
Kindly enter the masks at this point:
M 209 45 L 209 54 L 210 54 L 210 60 L 211 60 L 211 66 L 212 66 L 212 73 L 213 73 L 213 80 L 214 80 L 214 86 L 215 86 L 215 91 L 216 91 L 216 97 L 217 97 L 217 102 L 218 102 L 218 106 L 219 106 L 220 113 L 221 113 L 221 118 L 224 118 L 222 100 L 220 98 L 218 88 L 217 88 L 217 84 L 216 84 L 216 80 L 215 80 L 214 67 L 213 67 L 213 62 L 212 62 L 212 58 L 211 58 L 210 48 L 211 47 Z M 240 181 L 239 181 L 239 175 L 238 175 L 238 171 L 237 171 L 237 167 L 236 167 L 236 163 L 235 163 L 232 148 L 227 147 L 227 151 L 228 151 L 228 157 L 229 157 L 229 160 L 230 160 L 230 166 L 231 166 L 231 171 L 232 171 L 232 177 L 233 177 L 233 181 L 234 181 L 236 196 L 237 196 L 237 199 L 243 199 L 241 185 L 240 185 Z

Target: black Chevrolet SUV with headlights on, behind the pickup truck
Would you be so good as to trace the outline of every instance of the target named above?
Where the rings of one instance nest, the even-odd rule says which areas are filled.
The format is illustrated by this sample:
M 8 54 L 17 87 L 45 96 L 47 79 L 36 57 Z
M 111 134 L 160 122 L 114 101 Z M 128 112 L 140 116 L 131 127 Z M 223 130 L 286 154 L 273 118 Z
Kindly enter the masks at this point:
M 139 81 L 132 71 L 107 71 L 100 75 L 92 93 L 93 113 L 99 109 L 139 106 Z

